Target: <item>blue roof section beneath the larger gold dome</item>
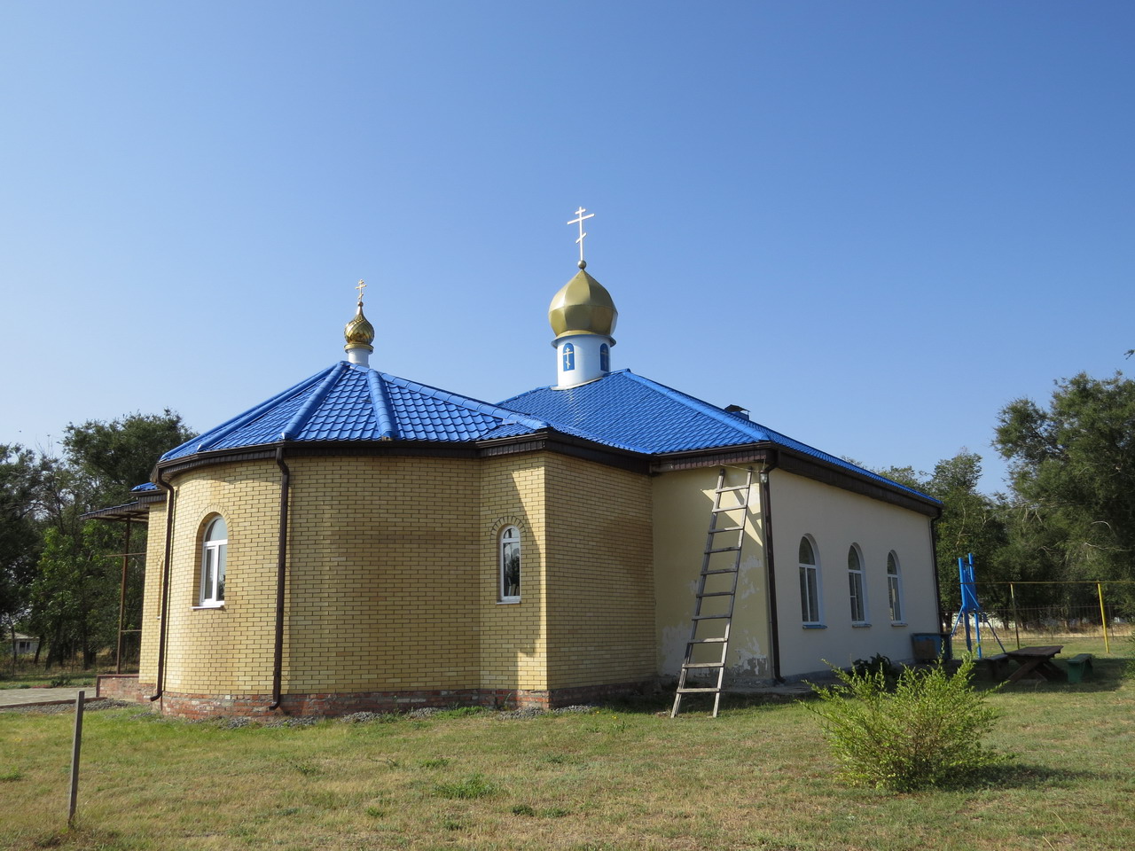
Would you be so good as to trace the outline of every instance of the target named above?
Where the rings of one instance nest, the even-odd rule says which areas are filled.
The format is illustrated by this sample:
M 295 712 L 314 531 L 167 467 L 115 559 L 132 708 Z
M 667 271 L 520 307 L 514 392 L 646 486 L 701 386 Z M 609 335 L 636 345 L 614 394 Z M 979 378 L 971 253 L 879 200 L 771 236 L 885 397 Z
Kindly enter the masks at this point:
M 501 404 L 546 420 L 557 431 L 648 455 L 767 441 L 925 496 L 630 370 L 565 390 L 541 387 Z

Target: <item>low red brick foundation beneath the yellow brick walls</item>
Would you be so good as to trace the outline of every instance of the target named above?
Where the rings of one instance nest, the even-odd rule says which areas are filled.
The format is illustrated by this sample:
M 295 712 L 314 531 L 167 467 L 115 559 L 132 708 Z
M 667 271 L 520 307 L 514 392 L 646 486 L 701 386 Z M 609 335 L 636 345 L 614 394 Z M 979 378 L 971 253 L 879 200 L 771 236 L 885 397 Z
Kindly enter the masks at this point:
M 101 688 L 102 677 L 100 677 Z M 136 677 L 135 677 L 136 681 Z M 641 693 L 649 683 L 590 685 L 552 691 L 506 689 L 454 689 L 421 691 L 365 691 L 326 694 L 284 694 L 278 709 L 269 709 L 270 694 L 192 694 L 167 691 L 158 702 L 161 713 L 175 718 L 238 716 L 247 718 L 278 715 L 337 716 L 352 713 L 406 713 L 411 709 L 446 709 L 454 706 L 485 706 L 495 709 L 550 709 L 587 703 L 627 694 Z M 152 689 L 153 686 L 150 686 Z M 125 688 L 124 688 L 125 691 Z M 140 702 L 149 702 L 136 689 Z M 152 691 L 150 692 L 152 693 Z M 100 691 L 100 696 L 102 692 Z M 111 697 L 107 694 L 106 697 Z M 121 697 L 120 699 L 131 699 Z

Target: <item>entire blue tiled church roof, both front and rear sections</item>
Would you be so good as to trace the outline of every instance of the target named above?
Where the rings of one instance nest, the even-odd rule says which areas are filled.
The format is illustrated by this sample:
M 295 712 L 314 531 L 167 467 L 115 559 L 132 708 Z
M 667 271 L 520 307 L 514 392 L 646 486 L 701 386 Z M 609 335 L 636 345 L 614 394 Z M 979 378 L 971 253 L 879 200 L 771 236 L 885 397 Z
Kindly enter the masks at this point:
M 768 443 L 918 494 L 630 370 L 564 390 L 541 387 L 491 405 L 340 361 L 170 449 L 161 461 L 280 441 L 453 444 L 548 428 L 644 455 Z M 153 487 L 140 486 L 135 491 Z

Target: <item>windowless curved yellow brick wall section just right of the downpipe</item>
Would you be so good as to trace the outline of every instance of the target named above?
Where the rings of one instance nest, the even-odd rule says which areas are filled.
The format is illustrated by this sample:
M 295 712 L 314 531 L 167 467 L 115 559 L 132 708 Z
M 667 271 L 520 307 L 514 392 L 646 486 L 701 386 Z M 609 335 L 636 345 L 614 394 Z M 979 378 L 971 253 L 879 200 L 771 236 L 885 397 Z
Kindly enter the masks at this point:
M 477 688 L 477 462 L 288 463 L 286 691 Z

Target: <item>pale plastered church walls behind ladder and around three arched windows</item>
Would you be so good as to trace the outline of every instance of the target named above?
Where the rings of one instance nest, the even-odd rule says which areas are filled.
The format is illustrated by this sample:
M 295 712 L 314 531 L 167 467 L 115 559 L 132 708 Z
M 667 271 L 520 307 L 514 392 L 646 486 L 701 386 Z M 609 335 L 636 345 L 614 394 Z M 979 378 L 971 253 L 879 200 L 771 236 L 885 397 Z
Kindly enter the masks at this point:
M 658 674 L 664 679 L 678 676 L 690 637 L 717 471 L 663 473 L 653 482 L 655 629 Z M 911 633 L 939 630 L 930 517 L 783 470 L 770 475 L 781 675 L 793 679 L 824 671 L 825 659 L 838 666 L 875 654 L 909 660 Z M 726 483 L 743 480 L 743 465 L 729 467 Z M 733 684 L 768 682 L 773 676 L 759 497 L 754 477 L 725 658 L 726 682 Z M 805 534 L 815 541 L 819 559 L 823 629 L 805 629 L 801 620 L 798 553 Z M 851 624 L 847 568 L 852 544 L 864 557 L 869 626 Z M 891 550 L 902 576 L 905 610 L 898 625 L 891 623 L 888 605 L 886 556 Z

